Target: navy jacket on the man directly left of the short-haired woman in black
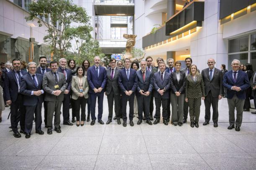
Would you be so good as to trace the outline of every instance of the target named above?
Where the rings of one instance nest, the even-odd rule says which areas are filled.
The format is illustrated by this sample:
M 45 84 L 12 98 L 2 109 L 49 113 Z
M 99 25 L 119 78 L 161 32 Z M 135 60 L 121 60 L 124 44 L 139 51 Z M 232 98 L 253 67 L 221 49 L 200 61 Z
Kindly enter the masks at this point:
M 169 99 L 170 98 L 170 74 L 165 71 L 165 74 L 163 76 L 163 81 L 161 79 L 161 71 L 158 71 L 157 73 L 154 74 L 153 77 L 153 85 L 154 85 L 154 97 L 158 98 L 158 97 L 162 97 L 163 99 Z M 161 96 L 158 93 L 158 89 L 162 90 L 165 89 L 165 92 L 163 94 L 163 96 Z

